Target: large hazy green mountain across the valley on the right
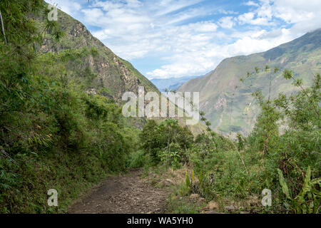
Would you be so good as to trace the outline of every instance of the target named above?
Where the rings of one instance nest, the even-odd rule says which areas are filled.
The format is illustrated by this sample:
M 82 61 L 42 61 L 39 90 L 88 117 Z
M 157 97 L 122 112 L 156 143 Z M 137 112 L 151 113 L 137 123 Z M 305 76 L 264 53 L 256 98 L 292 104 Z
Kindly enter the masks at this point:
M 279 68 L 278 73 L 265 73 L 266 65 Z M 260 68 L 259 73 L 253 73 L 255 67 Z M 302 78 L 304 85 L 310 85 L 313 75 L 321 71 L 321 29 L 263 53 L 226 58 L 214 71 L 188 81 L 179 91 L 200 92 L 200 109 L 214 130 L 247 135 L 258 115 L 252 93 L 262 90 L 267 96 L 270 76 L 272 98 L 296 90 L 292 81 L 282 77 L 285 69 L 291 70 L 295 78 Z M 253 73 L 249 78 L 248 72 Z M 240 78 L 245 81 L 240 82 Z

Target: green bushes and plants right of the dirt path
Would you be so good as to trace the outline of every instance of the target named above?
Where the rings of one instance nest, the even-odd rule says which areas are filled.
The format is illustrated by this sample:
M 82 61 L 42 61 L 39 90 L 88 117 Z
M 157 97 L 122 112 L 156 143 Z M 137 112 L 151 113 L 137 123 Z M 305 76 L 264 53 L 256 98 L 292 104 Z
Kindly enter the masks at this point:
M 261 73 L 258 68 L 255 71 Z M 263 71 L 277 73 L 277 68 L 265 66 Z M 233 204 L 235 212 L 320 213 L 321 77 L 317 74 L 312 85 L 304 87 L 292 71 L 284 71 L 283 76 L 299 91 L 290 96 L 280 93 L 275 99 L 270 94 L 265 98 L 260 91 L 253 93 L 260 107 L 258 120 L 248 137 L 238 134 L 237 142 L 214 133 L 203 112 L 200 116 L 207 130 L 188 140 L 187 147 L 166 142 L 168 135 L 161 126 L 170 127 L 169 133 L 175 129 L 172 125 L 146 124 L 142 137 L 146 153 L 153 160 L 158 158 L 161 166 L 178 169 L 185 164 L 185 169 L 192 170 L 185 174 L 185 185 L 176 186 L 170 195 L 171 212 L 200 212 L 200 205 L 188 199 L 197 194 L 217 202 L 221 212 Z M 165 135 L 163 141 L 160 135 Z M 272 191 L 271 206 L 260 202 L 264 189 Z

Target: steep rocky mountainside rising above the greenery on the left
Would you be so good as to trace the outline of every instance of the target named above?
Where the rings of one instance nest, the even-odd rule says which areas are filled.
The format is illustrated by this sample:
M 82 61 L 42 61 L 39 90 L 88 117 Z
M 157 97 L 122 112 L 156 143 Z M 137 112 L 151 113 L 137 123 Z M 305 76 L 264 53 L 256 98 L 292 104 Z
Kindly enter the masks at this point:
M 98 93 L 103 89 L 104 95 L 116 101 L 121 100 L 121 96 L 126 91 L 133 91 L 137 94 L 138 86 L 145 86 L 148 91 L 158 92 L 153 83 L 133 68 L 131 63 L 116 56 L 101 41 L 93 37 L 81 22 L 59 10 L 58 24 L 66 36 L 58 42 L 54 42 L 51 36 L 47 36 L 41 46 L 41 51 L 44 53 L 59 52 L 85 47 L 88 50 L 94 49 L 96 54 L 91 54 L 77 66 L 79 76 L 93 75 L 93 80 L 88 82 L 86 90 Z M 44 27 L 45 25 L 39 21 L 39 26 Z

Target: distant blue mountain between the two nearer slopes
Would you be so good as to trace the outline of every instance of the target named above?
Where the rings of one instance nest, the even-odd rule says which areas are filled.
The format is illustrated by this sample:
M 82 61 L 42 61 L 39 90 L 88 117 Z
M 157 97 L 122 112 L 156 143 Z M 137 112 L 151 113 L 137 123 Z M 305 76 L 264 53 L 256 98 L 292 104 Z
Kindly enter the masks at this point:
M 189 76 L 189 77 L 182 77 L 182 78 L 153 78 L 151 82 L 162 92 L 165 89 L 168 90 L 178 90 L 180 86 L 190 79 L 198 78 L 199 76 Z

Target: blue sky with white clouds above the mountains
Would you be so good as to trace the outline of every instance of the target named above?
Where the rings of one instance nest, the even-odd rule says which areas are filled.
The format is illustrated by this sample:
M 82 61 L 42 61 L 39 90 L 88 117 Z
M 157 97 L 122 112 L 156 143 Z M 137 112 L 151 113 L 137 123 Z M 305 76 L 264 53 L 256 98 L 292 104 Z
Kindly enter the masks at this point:
M 201 76 L 321 28 L 320 0 L 46 1 L 149 79 Z

